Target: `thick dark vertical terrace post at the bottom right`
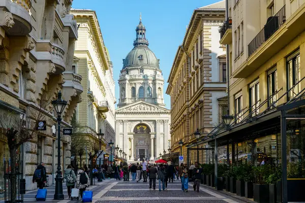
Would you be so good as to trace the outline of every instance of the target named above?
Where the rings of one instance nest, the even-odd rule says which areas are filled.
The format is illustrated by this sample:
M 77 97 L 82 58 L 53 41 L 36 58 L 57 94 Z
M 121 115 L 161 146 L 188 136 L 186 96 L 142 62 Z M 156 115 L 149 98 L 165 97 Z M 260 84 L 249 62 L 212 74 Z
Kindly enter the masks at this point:
M 288 202 L 288 184 L 287 184 L 287 137 L 286 137 L 286 112 L 281 112 L 281 147 L 282 147 L 282 201 Z

